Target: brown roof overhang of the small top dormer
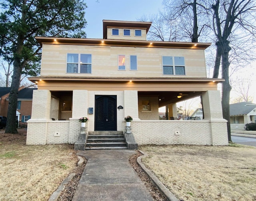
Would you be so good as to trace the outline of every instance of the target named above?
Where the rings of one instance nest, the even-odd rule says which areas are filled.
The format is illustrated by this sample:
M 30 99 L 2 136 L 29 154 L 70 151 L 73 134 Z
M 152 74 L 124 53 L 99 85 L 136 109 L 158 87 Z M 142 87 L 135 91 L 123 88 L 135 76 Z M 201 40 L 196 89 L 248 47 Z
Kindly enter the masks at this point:
M 146 29 L 146 33 L 152 22 L 134 22 L 134 21 L 120 21 L 120 20 L 102 20 L 103 22 L 103 38 L 107 38 L 107 28 L 134 28 Z

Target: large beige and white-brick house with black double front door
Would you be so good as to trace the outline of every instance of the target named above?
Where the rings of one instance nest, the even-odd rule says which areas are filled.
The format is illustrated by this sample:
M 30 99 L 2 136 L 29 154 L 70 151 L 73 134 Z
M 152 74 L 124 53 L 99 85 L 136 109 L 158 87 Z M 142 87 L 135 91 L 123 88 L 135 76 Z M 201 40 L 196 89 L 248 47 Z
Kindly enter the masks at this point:
M 151 24 L 103 20 L 103 39 L 36 37 L 41 74 L 29 78 L 38 90 L 26 143 L 75 143 L 80 117 L 90 119 L 86 133 L 125 132 L 130 115 L 138 144 L 228 144 L 217 90 L 224 80 L 206 77 L 211 44 L 147 41 Z M 197 96 L 204 121 L 159 120 L 159 107 L 177 117 L 176 103 Z

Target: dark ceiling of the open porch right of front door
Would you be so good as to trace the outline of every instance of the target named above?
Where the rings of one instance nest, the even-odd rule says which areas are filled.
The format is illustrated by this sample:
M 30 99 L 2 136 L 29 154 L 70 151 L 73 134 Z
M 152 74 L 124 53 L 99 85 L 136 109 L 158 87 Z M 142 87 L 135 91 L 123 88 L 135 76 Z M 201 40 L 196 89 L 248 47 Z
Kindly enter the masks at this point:
M 177 98 L 178 94 L 188 94 Z M 158 96 L 159 107 L 201 96 L 202 92 L 138 92 L 138 96 Z

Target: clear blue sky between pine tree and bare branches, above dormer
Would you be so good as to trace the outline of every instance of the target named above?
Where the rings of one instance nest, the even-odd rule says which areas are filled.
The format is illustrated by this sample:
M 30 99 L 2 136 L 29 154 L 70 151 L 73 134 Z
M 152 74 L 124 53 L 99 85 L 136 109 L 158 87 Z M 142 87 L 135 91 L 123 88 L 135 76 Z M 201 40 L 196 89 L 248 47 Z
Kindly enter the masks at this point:
M 137 21 L 162 10 L 162 0 L 86 0 L 87 38 L 103 38 L 102 20 Z

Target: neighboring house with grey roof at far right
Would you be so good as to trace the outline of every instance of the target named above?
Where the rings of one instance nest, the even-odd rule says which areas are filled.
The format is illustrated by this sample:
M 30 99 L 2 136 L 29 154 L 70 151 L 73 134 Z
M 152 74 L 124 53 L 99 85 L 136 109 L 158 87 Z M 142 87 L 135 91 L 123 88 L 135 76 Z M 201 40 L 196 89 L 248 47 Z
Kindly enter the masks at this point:
M 256 104 L 241 102 L 230 104 L 230 127 L 232 130 L 244 130 L 246 123 L 256 123 Z

